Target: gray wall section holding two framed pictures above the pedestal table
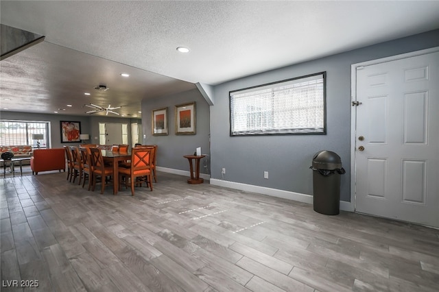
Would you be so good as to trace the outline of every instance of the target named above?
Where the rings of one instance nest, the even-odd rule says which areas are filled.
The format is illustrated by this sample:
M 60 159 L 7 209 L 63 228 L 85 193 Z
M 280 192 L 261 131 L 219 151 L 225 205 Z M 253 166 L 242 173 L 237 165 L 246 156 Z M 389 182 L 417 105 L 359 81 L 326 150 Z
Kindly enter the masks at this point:
M 195 101 L 195 135 L 176 135 L 175 106 Z M 166 108 L 168 110 L 168 135 L 153 136 L 151 127 L 152 110 Z M 145 145 L 158 145 L 157 166 L 169 169 L 189 171 L 189 162 L 184 155 L 193 154 L 196 147 L 201 147 L 203 158 L 207 162 L 207 169 L 200 165 L 200 173 L 210 172 L 210 145 L 209 145 L 209 105 L 198 89 L 186 91 L 176 95 L 160 97 L 157 99 L 143 99 L 142 101 L 142 128 L 146 138 Z

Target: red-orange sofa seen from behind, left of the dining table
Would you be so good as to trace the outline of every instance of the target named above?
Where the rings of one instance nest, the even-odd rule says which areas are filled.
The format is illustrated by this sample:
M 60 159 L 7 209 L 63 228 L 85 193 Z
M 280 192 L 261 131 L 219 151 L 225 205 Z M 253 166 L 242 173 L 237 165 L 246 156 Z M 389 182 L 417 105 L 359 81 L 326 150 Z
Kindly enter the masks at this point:
M 40 171 L 66 171 L 64 148 L 35 149 L 34 156 L 30 158 L 30 168 L 32 174 Z

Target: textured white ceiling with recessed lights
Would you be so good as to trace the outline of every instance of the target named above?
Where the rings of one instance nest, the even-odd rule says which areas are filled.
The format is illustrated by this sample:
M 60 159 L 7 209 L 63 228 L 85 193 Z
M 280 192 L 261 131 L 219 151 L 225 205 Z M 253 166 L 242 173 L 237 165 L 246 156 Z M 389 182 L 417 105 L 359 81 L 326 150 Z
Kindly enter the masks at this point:
M 2 24 L 45 36 L 45 42 L 1 61 L 1 108 L 45 113 L 74 100 L 63 113 L 84 114 L 81 105 L 92 102 L 122 106 L 121 113 L 134 116 L 141 99 L 190 90 L 196 82 L 216 85 L 439 28 L 439 1 L 0 5 Z M 178 53 L 178 46 L 191 51 Z M 121 79 L 122 71 L 131 76 Z M 98 84 L 110 90 L 84 97 Z

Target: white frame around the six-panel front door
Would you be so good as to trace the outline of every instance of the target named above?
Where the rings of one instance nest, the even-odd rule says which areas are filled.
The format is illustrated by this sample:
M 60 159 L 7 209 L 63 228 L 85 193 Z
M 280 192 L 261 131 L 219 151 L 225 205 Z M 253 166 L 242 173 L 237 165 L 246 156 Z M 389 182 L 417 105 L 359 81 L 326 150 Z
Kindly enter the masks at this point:
M 390 62 L 394 60 L 401 60 L 405 58 L 410 58 L 414 56 L 425 55 L 427 53 L 435 53 L 439 51 L 439 47 L 434 47 L 430 49 L 423 49 L 420 51 L 412 51 L 410 53 L 403 53 L 401 55 L 390 56 L 386 58 L 380 58 L 377 60 L 369 60 L 366 62 L 356 63 L 351 65 L 351 102 L 357 101 L 357 68 L 361 66 L 370 66 L 384 62 Z M 361 102 L 361 101 L 360 101 Z M 355 143 L 357 143 L 356 132 L 357 132 L 357 111 L 355 110 L 357 107 L 353 106 L 351 109 L 351 204 L 346 202 L 345 207 L 347 207 L 348 211 L 355 212 L 355 194 L 357 190 L 357 176 L 356 176 L 356 167 L 357 163 L 355 161 Z M 346 210 L 346 209 L 345 209 Z

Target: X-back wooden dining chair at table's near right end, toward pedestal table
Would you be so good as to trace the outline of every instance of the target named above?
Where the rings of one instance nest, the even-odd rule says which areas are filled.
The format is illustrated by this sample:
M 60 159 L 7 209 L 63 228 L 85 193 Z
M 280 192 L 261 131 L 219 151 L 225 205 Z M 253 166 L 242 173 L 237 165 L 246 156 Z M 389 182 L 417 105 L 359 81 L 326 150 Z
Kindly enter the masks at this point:
M 128 182 L 131 186 L 131 195 L 134 195 L 134 184 L 141 186 L 142 182 L 150 185 L 152 191 L 152 176 L 151 176 L 151 163 L 152 163 L 152 151 L 153 148 L 148 147 L 134 147 L 131 150 L 131 166 L 130 168 L 119 168 L 119 182 L 125 179 L 125 187 Z M 119 189 L 121 185 L 119 184 Z

